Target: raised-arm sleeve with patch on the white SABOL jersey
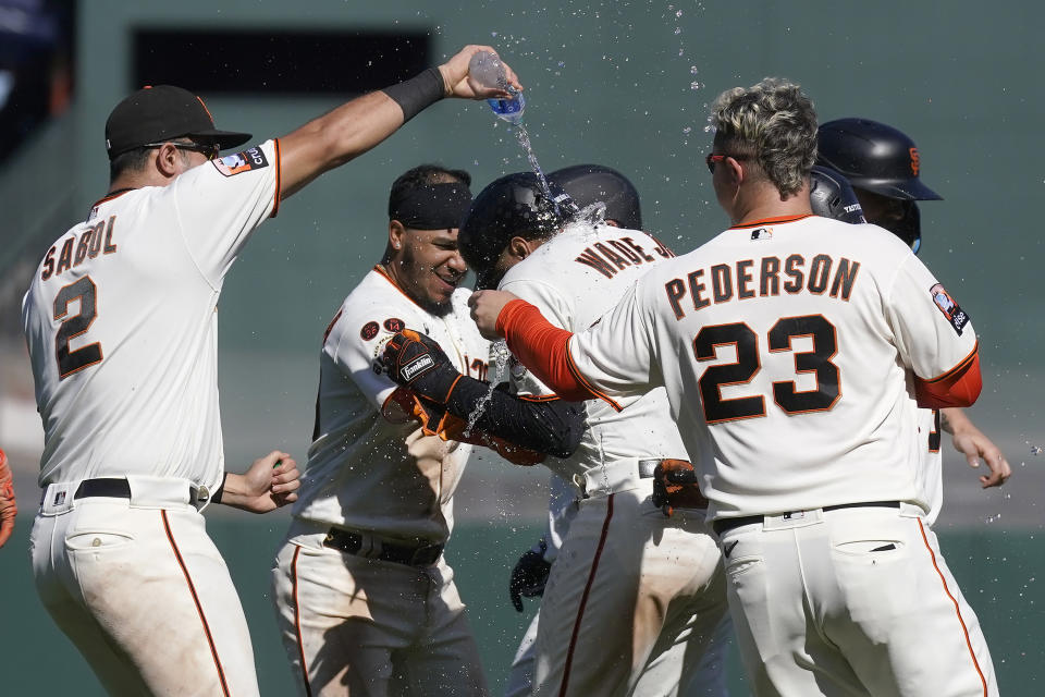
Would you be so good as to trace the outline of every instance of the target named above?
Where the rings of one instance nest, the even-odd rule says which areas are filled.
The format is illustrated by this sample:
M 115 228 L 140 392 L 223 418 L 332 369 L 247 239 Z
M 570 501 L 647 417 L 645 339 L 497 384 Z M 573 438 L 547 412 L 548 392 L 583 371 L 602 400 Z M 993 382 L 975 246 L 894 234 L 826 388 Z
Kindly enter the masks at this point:
M 185 245 L 216 288 L 280 201 L 280 147 L 267 140 L 193 168 L 169 187 Z

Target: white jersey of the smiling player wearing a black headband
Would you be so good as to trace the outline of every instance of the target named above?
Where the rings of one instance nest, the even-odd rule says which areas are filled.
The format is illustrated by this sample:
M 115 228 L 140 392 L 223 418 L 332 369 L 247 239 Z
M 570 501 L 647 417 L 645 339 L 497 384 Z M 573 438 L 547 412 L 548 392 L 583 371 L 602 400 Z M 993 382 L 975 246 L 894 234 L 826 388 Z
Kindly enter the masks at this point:
M 451 313 L 435 317 L 380 267 L 348 294 L 323 340 L 316 432 L 295 516 L 402 539 L 446 540 L 451 499 L 470 447 L 409 438 L 416 421 L 390 423 L 382 409 L 396 386 L 372 364 L 389 337 L 409 328 L 435 340 L 462 372 L 484 378 L 489 342 L 469 317 L 469 294 L 455 291 Z M 434 450 L 418 457 L 421 448 Z M 423 472 L 419 463 L 427 463 Z

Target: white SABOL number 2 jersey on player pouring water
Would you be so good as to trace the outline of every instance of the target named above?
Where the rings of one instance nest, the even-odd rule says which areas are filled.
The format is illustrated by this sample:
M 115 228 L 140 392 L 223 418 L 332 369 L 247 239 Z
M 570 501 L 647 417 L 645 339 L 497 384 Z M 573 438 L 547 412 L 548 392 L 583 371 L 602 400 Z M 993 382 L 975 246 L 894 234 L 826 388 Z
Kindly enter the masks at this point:
M 114 192 L 48 249 L 22 304 L 44 419 L 40 486 L 184 478 L 213 490 L 218 297 L 280 198 L 268 140 L 169 186 Z

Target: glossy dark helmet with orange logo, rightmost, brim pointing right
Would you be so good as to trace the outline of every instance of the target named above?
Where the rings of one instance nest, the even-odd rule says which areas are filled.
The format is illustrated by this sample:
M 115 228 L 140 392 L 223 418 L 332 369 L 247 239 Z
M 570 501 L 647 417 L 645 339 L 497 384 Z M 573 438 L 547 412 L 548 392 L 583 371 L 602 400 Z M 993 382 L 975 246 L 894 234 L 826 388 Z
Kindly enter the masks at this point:
M 853 188 L 902 200 L 939 200 L 919 179 L 918 147 L 906 134 L 870 119 L 838 119 L 816 133 L 816 163 L 840 172 Z

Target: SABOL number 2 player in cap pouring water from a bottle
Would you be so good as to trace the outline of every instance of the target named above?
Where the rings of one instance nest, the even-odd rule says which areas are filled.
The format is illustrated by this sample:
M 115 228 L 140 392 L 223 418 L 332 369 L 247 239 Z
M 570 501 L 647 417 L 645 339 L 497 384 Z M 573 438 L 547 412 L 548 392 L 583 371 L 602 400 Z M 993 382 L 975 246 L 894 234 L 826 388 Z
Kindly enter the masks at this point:
M 254 230 L 316 176 L 445 96 L 479 89 L 467 47 L 290 135 L 219 131 L 172 86 L 106 124 L 110 189 L 47 250 L 23 302 L 44 421 L 38 592 L 112 694 L 258 694 L 235 588 L 199 514 L 296 498 L 283 452 L 224 473 L 217 386 L 222 283 Z M 514 73 L 508 81 L 517 84 Z

